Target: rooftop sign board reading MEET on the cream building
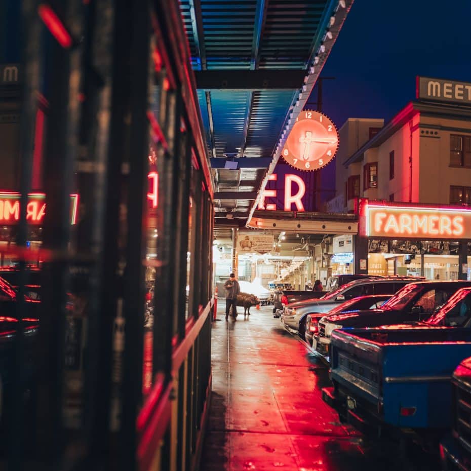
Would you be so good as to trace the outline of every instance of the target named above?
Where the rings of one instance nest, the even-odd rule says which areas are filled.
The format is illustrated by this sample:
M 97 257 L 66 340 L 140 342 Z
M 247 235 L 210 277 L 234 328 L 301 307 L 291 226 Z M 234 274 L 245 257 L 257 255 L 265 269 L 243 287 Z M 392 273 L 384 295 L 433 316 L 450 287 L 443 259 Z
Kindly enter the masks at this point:
M 471 105 L 471 83 L 418 76 L 416 97 L 420 100 Z

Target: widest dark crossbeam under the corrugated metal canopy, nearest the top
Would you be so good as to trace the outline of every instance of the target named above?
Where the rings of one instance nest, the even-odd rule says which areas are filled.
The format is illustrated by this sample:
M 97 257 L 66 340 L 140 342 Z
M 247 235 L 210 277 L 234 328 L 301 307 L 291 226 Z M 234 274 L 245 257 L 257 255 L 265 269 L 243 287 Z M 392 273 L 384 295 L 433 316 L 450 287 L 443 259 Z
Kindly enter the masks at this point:
M 195 70 L 199 90 L 297 90 L 305 70 Z

